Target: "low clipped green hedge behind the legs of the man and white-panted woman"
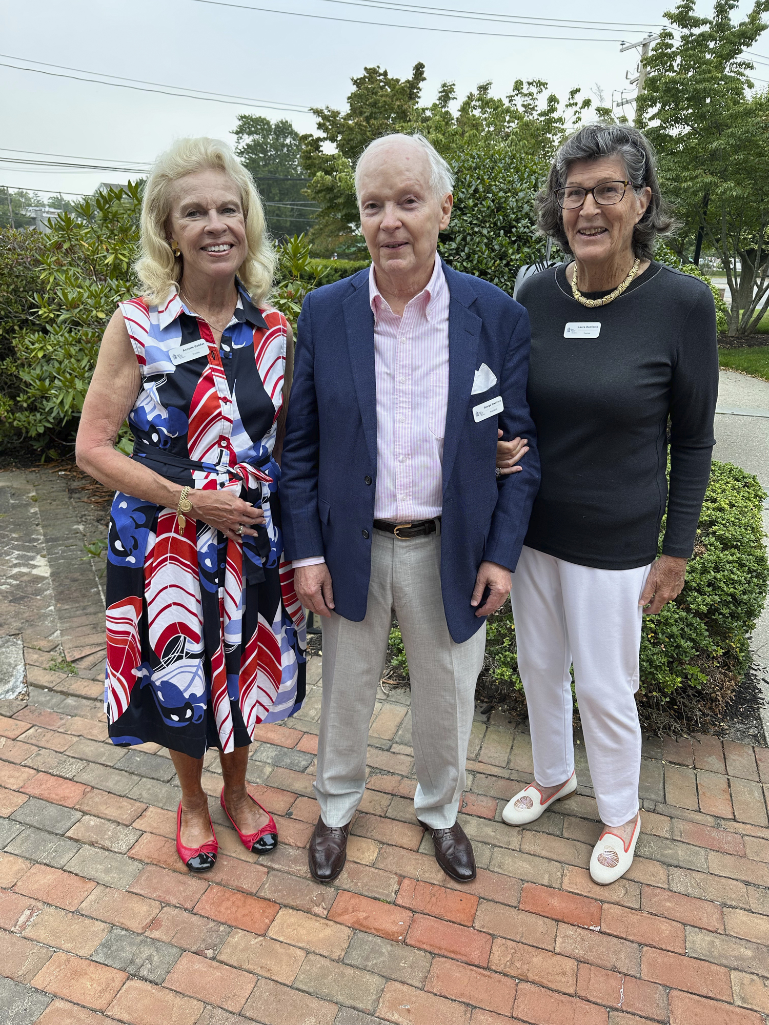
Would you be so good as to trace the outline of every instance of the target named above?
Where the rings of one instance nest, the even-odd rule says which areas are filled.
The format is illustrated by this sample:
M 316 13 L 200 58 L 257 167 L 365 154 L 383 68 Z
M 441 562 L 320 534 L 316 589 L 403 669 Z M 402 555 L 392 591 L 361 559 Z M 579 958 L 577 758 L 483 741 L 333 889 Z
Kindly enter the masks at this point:
M 686 585 L 658 615 L 644 617 L 638 704 L 647 729 L 676 735 L 719 732 L 723 726 L 724 710 L 750 663 L 747 639 L 769 582 L 761 516 L 765 497 L 752 474 L 713 463 Z M 660 550 L 663 532 L 664 522 Z M 405 675 L 400 631 L 394 634 L 389 664 Z M 516 710 L 524 707 L 509 605 L 487 621 L 478 694 Z

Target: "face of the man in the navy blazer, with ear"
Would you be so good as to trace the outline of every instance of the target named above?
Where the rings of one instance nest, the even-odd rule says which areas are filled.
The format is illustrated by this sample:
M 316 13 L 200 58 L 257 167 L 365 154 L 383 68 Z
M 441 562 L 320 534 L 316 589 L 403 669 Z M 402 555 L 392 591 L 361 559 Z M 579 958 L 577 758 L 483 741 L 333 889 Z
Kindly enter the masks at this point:
M 377 147 L 360 171 L 361 229 L 378 271 L 418 276 L 435 259 L 438 233 L 448 227 L 453 198 L 436 199 L 430 162 L 406 139 Z

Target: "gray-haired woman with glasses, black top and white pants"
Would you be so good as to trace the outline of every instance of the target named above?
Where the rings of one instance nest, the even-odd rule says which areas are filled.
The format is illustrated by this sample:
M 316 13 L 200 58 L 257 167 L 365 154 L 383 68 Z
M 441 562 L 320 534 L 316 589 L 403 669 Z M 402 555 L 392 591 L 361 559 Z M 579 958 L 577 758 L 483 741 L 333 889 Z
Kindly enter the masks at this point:
M 706 285 L 653 259 L 672 221 L 638 129 L 580 128 L 537 204 L 567 259 L 518 296 L 542 475 L 512 588 L 535 781 L 502 817 L 532 822 L 576 790 L 573 665 L 603 822 L 590 868 L 608 884 L 630 868 L 641 830 L 642 615 L 681 592 L 707 486 L 716 312 Z

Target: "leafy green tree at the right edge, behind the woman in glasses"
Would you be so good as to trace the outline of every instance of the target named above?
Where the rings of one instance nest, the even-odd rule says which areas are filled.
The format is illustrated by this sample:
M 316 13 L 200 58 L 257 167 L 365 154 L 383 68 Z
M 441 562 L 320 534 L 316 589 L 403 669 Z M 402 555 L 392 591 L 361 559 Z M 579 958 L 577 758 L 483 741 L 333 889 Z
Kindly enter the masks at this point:
M 665 16 L 646 58 L 638 119 L 659 155 L 662 188 L 682 227 L 679 255 L 704 243 L 718 255 L 732 303 L 729 334 L 755 330 L 769 310 L 769 95 L 752 93 L 745 50 L 766 29 L 769 0 L 736 24 L 738 0 L 716 0 L 712 17 L 683 0 Z

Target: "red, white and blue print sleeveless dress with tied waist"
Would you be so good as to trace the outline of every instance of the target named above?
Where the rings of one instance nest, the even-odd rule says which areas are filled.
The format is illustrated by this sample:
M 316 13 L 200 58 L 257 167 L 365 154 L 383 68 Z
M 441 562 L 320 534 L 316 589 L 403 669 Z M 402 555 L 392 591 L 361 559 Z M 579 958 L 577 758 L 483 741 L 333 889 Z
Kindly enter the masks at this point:
M 115 744 L 232 751 L 305 699 L 305 615 L 283 559 L 273 459 L 287 325 L 238 289 L 220 351 L 175 292 L 160 308 L 120 303 L 141 372 L 128 417 L 133 458 L 181 486 L 232 490 L 267 523 L 232 541 L 189 517 L 180 529 L 175 509 L 115 495 L 105 687 Z

